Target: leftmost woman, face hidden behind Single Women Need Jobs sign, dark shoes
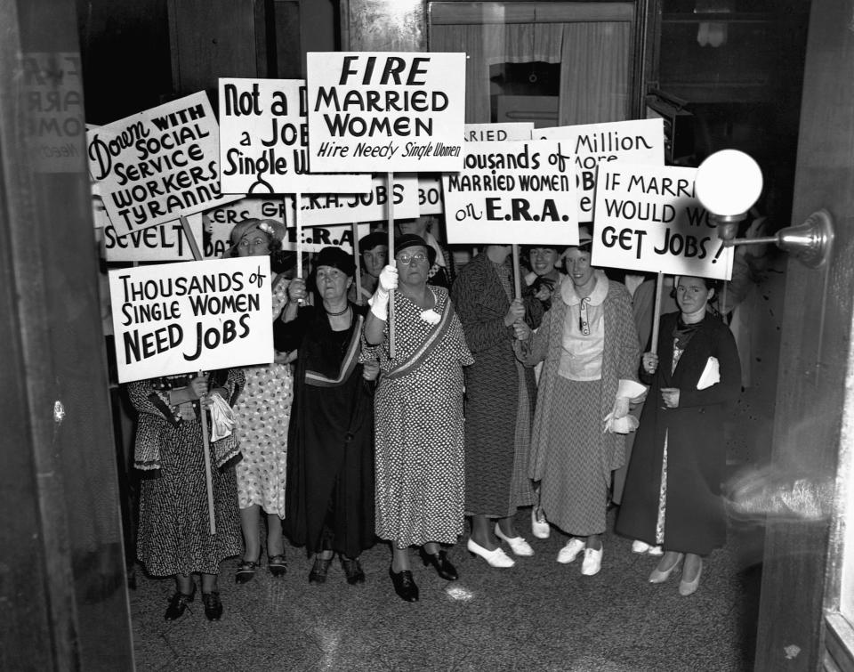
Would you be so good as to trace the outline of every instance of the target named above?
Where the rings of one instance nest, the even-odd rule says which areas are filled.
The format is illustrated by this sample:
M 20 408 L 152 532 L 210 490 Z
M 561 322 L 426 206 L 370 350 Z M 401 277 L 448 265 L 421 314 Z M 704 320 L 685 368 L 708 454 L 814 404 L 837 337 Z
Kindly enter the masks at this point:
M 205 482 L 205 441 L 200 413 L 211 395 L 234 404 L 243 371 L 229 369 L 202 376 L 163 376 L 127 385 L 136 425 L 134 463 L 149 478 L 141 479 L 137 558 L 152 576 L 174 576 L 177 591 L 166 620 L 177 619 L 196 596 L 194 573 L 201 574 L 205 616 L 219 620 L 222 602 L 217 575 L 224 558 L 240 553 L 238 492 L 230 460 L 238 456 L 234 433 L 212 441 L 211 534 Z

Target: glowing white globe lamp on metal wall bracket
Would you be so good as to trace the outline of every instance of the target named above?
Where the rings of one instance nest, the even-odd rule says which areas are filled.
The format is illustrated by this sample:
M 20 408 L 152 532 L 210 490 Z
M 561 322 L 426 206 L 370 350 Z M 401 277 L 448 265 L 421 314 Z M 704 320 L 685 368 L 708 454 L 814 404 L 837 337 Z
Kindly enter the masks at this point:
M 787 226 L 773 236 L 738 239 L 738 223 L 762 191 L 762 171 L 743 151 L 717 151 L 700 164 L 694 181 L 700 203 L 709 211 L 718 236 L 727 247 L 774 243 L 810 268 L 818 268 L 830 256 L 834 223 L 830 213 L 818 210 L 797 226 Z

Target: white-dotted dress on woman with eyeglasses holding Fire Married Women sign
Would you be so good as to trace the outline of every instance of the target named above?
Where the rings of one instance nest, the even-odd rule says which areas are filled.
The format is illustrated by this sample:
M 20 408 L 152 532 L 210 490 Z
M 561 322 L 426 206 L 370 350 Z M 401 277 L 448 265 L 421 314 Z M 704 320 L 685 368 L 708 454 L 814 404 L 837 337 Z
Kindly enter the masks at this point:
M 450 301 L 431 287 L 436 312 Z M 376 534 L 397 547 L 430 541 L 455 544 L 463 534 L 463 366 L 473 363 L 459 319 L 451 318 L 421 365 L 404 376 L 384 374 L 410 360 L 437 328 L 422 309 L 394 293 L 395 357 L 386 338 L 363 348 L 361 360 L 380 360 L 375 393 Z

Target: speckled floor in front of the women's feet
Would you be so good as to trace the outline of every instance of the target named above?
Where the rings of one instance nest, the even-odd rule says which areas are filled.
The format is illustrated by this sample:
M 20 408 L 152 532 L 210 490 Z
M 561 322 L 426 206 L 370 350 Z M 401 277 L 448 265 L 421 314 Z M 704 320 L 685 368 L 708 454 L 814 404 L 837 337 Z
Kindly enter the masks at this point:
M 613 514 L 609 526 L 613 526 Z M 526 530 L 527 512 L 517 524 Z M 748 531 L 748 535 L 750 532 Z M 739 560 L 738 538 L 705 565 L 697 594 L 678 577 L 647 582 L 655 558 L 632 555 L 608 534 L 602 571 L 555 563 L 565 538 L 529 540 L 532 558 L 496 570 L 451 550 L 461 578 L 439 579 L 413 554 L 421 601 L 404 603 L 388 578 L 389 547 L 363 555 L 364 585 L 351 587 L 334 563 L 326 585 L 310 585 L 309 560 L 288 549 L 286 577 L 260 572 L 234 583 L 222 564 L 222 620 L 201 600 L 180 620 L 163 619 L 172 580 L 138 573 L 131 594 L 138 670 L 741 670 L 753 660 L 758 571 Z

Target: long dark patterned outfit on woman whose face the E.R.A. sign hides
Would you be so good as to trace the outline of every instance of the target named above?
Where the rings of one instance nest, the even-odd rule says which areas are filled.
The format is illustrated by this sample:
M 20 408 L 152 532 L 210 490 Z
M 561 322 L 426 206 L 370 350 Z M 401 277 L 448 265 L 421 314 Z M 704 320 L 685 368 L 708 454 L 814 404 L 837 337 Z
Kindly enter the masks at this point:
M 522 287 L 528 287 L 524 279 Z M 465 511 L 503 518 L 515 513 L 516 506 L 533 501 L 527 472 L 536 381 L 533 370 L 523 369 L 528 426 L 522 428 L 525 438 L 518 446 L 520 376 L 513 353 L 513 328 L 504 325 L 510 300 L 486 254 L 463 267 L 452 296 L 474 355 L 474 364 L 465 368 Z M 524 301 L 528 322 L 536 328 L 542 306 L 533 296 Z M 523 455 L 518 456 L 517 450 Z M 513 467 L 518 458 L 524 461 L 521 470 L 517 469 L 523 482 L 514 488 Z

